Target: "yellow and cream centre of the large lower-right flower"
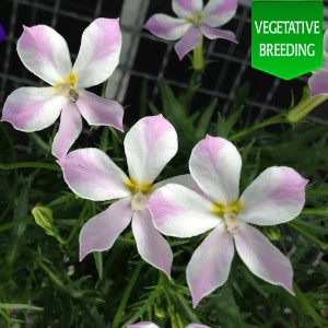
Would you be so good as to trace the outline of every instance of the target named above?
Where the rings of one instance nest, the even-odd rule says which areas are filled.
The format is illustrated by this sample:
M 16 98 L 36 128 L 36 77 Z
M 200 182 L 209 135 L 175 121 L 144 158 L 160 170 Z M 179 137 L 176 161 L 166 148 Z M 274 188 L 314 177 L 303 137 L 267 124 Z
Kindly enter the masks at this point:
M 239 199 L 229 204 L 212 203 L 212 212 L 224 220 L 226 230 L 233 235 L 237 232 L 239 225 L 238 213 L 243 209 L 243 203 Z

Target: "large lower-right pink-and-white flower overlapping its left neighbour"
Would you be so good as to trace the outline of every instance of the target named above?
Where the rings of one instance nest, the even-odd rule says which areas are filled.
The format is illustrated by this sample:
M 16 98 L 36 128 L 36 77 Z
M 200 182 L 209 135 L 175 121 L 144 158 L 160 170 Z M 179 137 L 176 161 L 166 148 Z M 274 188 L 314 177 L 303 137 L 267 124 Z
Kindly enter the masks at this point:
M 213 230 L 187 267 L 194 307 L 226 281 L 234 244 L 254 274 L 293 294 L 291 262 L 250 224 L 273 225 L 297 216 L 307 180 L 293 168 L 272 166 L 239 197 L 242 157 L 230 141 L 210 136 L 194 148 L 189 168 L 203 195 L 169 184 L 155 190 L 147 207 L 165 235 L 192 237 Z

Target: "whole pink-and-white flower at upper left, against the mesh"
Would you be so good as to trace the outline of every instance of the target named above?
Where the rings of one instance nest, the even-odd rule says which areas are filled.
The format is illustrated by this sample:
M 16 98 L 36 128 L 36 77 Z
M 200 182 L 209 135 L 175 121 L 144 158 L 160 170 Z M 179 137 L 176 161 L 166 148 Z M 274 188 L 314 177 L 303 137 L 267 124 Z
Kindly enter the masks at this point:
M 81 133 L 81 116 L 90 125 L 122 130 L 121 105 L 84 90 L 112 75 L 120 48 L 118 19 L 97 19 L 85 28 L 74 66 L 60 34 L 46 25 L 25 26 L 17 40 L 19 56 L 31 72 L 51 86 L 20 87 L 12 92 L 4 103 L 1 120 L 31 132 L 49 127 L 61 113 L 52 144 L 52 154 L 59 163 Z

